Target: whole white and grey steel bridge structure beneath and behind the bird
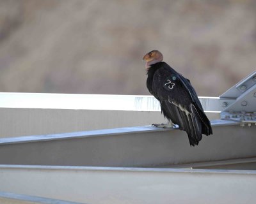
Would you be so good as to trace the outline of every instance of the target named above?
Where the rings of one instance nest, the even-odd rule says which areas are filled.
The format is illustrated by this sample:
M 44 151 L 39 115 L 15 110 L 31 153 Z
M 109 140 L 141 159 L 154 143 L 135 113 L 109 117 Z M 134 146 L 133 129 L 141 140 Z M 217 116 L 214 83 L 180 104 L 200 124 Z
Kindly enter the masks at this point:
M 0 93 L 0 203 L 253 203 L 256 71 L 200 102 L 190 147 L 152 96 Z

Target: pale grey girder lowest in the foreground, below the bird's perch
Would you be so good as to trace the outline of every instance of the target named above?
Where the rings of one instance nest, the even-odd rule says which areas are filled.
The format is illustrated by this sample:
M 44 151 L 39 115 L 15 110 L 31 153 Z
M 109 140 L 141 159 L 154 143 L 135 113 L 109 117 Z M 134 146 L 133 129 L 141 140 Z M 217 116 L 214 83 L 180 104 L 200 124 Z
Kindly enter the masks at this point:
M 93 204 L 256 200 L 256 171 L 0 165 L 0 182 L 0 191 Z

